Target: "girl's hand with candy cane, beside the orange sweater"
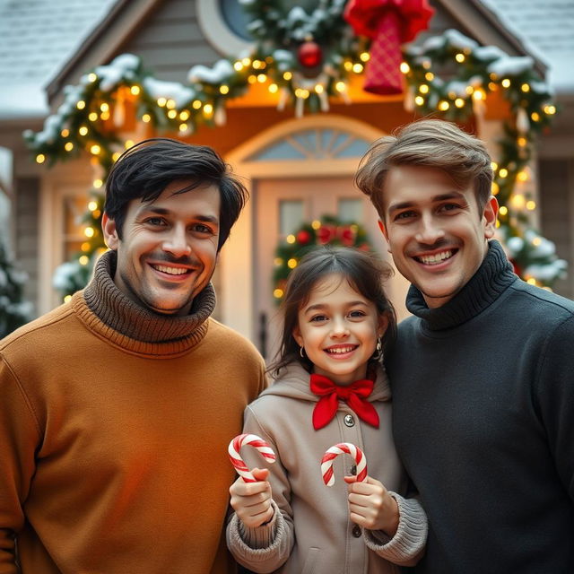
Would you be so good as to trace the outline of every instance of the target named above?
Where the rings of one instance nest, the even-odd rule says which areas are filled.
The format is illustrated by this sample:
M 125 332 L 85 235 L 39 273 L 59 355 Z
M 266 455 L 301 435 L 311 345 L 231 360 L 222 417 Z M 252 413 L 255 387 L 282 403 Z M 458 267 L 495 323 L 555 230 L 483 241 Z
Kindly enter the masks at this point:
M 239 473 L 239 478 L 230 486 L 231 508 L 245 526 L 256 528 L 271 520 L 274 515 L 271 485 L 266 481 L 269 471 L 266 468 L 249 471 L 239 454 L 243 445 L 257 448 L 269 462 L 274 462 L 275 456 L 265 440 L 257 435 L 242 434 L 230 442 L 230 460 Z

